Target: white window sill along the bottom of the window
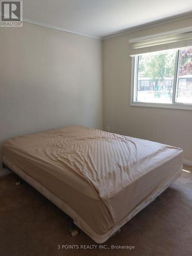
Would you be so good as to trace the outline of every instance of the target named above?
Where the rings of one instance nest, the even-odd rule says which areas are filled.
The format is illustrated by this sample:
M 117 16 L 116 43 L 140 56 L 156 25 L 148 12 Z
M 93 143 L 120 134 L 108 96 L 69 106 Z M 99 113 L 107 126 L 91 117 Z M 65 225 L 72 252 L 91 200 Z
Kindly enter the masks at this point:
M 176 110 L 192 110 L 192 104 L 184 103 L 151 103 L 134 101 L 130 106 L 144 106 L 146 108 L 162 108 L 162 109 L 176 109 Z

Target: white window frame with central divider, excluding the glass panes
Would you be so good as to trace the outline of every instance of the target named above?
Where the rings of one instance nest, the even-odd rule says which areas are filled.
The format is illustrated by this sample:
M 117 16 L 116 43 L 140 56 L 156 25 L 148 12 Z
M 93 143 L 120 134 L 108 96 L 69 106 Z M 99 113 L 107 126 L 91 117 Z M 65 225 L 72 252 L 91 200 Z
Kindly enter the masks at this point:
M 132 57 L 130 106 L 144 106 L 144 107 L 150 107 L 150 108 L 192 110 L 192 103 L 176 102 L 176 92 L 177 92 L 177 89 L 179 86 L 178 73 L 179 73 L 179 69 L 180 69 L 180 52 L 181 52 L 181 49 L 178 49 L 177 53 L 176 53 L 176 59 L 175 59 L 175 72 L 174 72 L 174 80 L 173 80 L 172 103 L 155 103 L 155 102 L 137 101 L 139 56 Z

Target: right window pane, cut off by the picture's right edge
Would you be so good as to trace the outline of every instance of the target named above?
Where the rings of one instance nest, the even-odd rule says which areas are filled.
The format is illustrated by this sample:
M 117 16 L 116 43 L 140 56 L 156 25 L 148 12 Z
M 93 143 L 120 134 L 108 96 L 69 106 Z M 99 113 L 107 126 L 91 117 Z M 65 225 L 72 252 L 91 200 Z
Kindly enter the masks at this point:
M 192 48 L 181 50 L 176 102 L 192 103 Z

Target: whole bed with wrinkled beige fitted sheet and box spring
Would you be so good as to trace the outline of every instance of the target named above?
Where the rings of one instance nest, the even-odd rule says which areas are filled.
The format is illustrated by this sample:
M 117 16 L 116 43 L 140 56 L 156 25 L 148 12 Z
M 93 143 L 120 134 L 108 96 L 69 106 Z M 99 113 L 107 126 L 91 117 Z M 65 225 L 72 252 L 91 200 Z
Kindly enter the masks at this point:
M 181 148 L 79 125 L 3 146 L 4 164 L 97 243 L 181 176 L 182 155 Z

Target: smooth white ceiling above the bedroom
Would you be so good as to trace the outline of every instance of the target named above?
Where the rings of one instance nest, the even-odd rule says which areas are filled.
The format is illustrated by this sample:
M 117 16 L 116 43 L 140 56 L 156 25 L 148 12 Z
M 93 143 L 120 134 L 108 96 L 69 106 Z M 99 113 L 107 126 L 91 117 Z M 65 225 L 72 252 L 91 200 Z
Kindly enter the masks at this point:
M 191 0 L 23 0 L 24 20 L 93 37 L 191 11 Z

